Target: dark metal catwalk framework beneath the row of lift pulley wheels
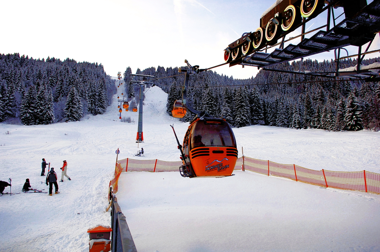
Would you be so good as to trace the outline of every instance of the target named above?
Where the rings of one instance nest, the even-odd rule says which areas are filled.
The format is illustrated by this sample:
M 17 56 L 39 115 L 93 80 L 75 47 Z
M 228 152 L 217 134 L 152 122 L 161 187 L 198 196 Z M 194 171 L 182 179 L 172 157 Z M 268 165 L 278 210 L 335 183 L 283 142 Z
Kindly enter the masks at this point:
M 283 33 L 283 35 L 279 36 L 277 39 L 282 39 L 280 43 L 275 44 L 275 46 L 279 45 L 279 48 L 275 48 L 273 52 L 266 53 L 261 50 L 265 50 L 268 48 L 270 43 L 265 44 L 264 49 L 260 47 L 253 51 L 250 55 L 242 56 L 230 62 L 230 66 L 234 65 L 242 65 L 244 66 L 256 66 L 258 68 L 262 68 L 268 71 L 272 71 L 275 69 L 271 69 L 270 67 L 278 65 L 280 63 L 284 63 L 287 61 L 292 61 L 296 59 L 302 60 L 302 58 L 319 54 L 321 52 L 326 52 L 329 50 L 338 50 L 338 54 L 336 55 L 336 72 L 335 74 L 318 74 L 313 72 L 292 72 L 294 74 L 305 74 L 312 76 L 321 76 L 321 77 L 355 77 L 355 78 L 372 78 L 374 81 L 378 80 L 378 78 L 373 79 L 374 77 L 378 77 L 378 73 L 375 71 L 370 71 L 373 69 L 379 69 L 378 66 L 374 68 L 361 69 L 361 60 L 363 60 L 364 54 L 368 54 L 371 52 L 367 52 L 370 44 L 372 43 L 376 33 L 380 31 L 380 0 L 374 0 L 370 4 L 366 5 L 363 9 L 361 9 L 355 15 L 347 15 L 344 20 L 335 24 L 336 19 L 334 17 L 334 9 L 333 4 L 338 1 L 331 1 L 331 3 L 325 6 L 318 12 L 318 15 L 325 10 L 328 10 L 328 18 L 327 24 L 323 27 L 326 27 L 326 30 L 319 30 L 315 33 L 311 38 L 304 38 L 306 34 L 304 32 L 304 27 L 306 22 L 309 22 L 312 18 L 303 19 L 302 23 L 299 24 L 296 28 L 302 26 L 302 34 L 301 42 L 299 44 L 289 44 L 284 48 L 285 36 L 289 32 Z M 331 14 L 332 14 L 332 28 L 331 26 Z M 248 33 L 242 36 L 242 39 L 248 37 Z M 380 35 L 380 34 L 379 34 Z M 246 37 L 245 37 L 246 36 Z M 294 38 L 293 38 L 294 39 Z M 291 40 L 291 39 L 289 39 Z M 289 41 L 288 40 L 288 41 Z M 364 53 L 361 52 L 361 47 L 368 43 L 369 45 Z M 358 65 L 355 71 L 341 71 L 339 69 L 339 60 L 340 58 L 340 50 L 344 49 L 345 46 L 358 46 L 358 54 L 352 56 L 358 56 Z M 273 47 L 273 46 L 272 46 Z M 345 50 L 345 49 L 344 49 Z M 378 52 L 379 50 L 374 50 L 372 52 Z M 347 57 L 344 57 L 347 58 Z M 276 69 L 277 70 L 277 69 Z M 278 70 L 281 71 L 281 70 Z

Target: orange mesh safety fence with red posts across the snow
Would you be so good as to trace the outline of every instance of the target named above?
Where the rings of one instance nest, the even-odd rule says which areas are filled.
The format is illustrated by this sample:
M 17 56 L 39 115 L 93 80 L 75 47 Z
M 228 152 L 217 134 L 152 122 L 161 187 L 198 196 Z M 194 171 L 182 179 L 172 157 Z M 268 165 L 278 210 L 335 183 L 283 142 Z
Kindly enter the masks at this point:
M 114 178 L 109 182 L 113 193 L 117 192 L 117 182 L 122 172 L 177 172 L 181 161 L 166 162 L 158 159 L 123 159 L 116 163 Z M 244 167 L 244 169 L 243 169 Z M 344 190 L 380 194 L 380 174 L 374 172 L 333 172 L 310 170 L 295 164 L 279 164 L 269 160 L 239 157 L 234 170 L 249 170 L 264 175 L 272 175 L 303 183 Z

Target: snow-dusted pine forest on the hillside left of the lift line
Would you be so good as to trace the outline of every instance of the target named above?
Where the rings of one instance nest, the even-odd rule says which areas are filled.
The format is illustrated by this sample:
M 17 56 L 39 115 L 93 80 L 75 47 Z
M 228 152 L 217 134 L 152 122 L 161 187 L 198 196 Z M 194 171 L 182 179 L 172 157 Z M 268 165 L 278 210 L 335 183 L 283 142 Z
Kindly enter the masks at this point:
M 98 63 L 0 54 L 0 122 L 51 124 L 103 114 L 114 83 Z

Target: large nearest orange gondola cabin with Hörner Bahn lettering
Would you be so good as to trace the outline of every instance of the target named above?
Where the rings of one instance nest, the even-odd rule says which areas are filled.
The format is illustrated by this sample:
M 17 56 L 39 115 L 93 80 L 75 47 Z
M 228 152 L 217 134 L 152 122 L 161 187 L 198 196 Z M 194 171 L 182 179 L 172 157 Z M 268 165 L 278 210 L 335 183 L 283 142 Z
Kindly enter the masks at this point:
M 197 118 L 188 128 L 183 150 L 196 176 L 230 176 L 237 160 L 234 133 L 221 118 Z

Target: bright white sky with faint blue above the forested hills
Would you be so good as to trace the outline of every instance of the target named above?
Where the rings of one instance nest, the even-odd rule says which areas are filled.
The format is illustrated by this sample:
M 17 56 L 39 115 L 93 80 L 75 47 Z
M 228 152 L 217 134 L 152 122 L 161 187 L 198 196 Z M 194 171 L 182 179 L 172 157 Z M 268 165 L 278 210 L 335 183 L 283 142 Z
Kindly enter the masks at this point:
M 207 68 L 223 63 L 223 49 L 242 33 L 255 31 L 261 14 L 274 2 L 2 0 L 0 53 L 98 62 L 111 76 L 128 66 L 133 72 L 150 66 L 183 66 L 185 59 Z M 318 17 L 310 30 L 325 20 Z M 377 36 L 371 49 L 379 47 Z M 314 58 L 332 57 L 324 53 Z M 257 73 L 257 68 L 241 66 L 214 70 L 239 79 Z

